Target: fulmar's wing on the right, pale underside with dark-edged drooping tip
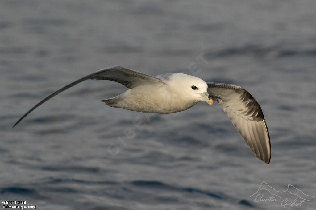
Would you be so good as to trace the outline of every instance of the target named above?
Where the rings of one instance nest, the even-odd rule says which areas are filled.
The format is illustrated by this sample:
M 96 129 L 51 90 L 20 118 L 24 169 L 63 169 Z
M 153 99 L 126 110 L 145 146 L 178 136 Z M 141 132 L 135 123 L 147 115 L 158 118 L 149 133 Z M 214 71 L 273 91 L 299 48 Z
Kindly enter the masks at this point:
M 217 101 L 252 152 L 269 164 L 270 136 L 260 105 L 238 85 L 206 82 L 207 92 Z

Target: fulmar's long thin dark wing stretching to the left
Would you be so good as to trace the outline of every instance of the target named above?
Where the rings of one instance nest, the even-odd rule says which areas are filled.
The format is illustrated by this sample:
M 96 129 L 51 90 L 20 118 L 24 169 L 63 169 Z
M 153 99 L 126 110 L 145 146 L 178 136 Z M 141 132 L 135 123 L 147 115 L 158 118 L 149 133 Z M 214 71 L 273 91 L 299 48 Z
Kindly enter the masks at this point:
M 68 88 L 83 82 L 88 79 L 99 79 L 99 80 L 110 80 L 114 82 L 119 82 L 122 85 L 126 86 L 127 88 L 134 88 L 139 85 L 144 85 L 147 83 L 159 83 L 162 82 L 160 79 L 151 77 L 149 75 L 133 71 L 130 69 L 125 69 L 120 66 L 112 66 L 106 69 L 102 69 L 100 71 L 94 72 L 93 74 L 89 74 L 81 79 L 76 80 L 75 82 L 66 85 L 65 87 L 57 90 L 56 92 L 52 93 L 51 95 L 47 96 L 45 99 L 41 100 L 38 104 L 33 106 L 27 113 L 25 113 L 15 124 L 12 128 L 16 126 L 24 117 L 26 117 L 31 111 L 33 111 L 36 107 L 43 104 L 48 99 L 51 99 L 55 95 L 67 90 Z

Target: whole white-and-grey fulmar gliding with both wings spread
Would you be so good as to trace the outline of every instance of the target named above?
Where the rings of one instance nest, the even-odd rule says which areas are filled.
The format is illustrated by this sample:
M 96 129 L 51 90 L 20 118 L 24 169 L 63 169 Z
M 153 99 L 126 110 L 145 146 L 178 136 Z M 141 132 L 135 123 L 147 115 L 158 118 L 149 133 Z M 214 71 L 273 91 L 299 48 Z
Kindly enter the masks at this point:
M 181 73 L 151 77 L 120 66 L 108 67 L 82 77 L 47 96 L 27 111 L 15 125 L 45 101 L 88 79 L 111 80 L 129 88 L 116 97 L 102 101 L 106 105 L 131 111 L 168 114 L 187 110 L 199 101 L 212 105 L 215 100 L 222 106 L 258 159 L 267 164 L 270 162 L 268 128 L 261 107 L 252 95 L 238 85 L 204 82 L 198 77 Z

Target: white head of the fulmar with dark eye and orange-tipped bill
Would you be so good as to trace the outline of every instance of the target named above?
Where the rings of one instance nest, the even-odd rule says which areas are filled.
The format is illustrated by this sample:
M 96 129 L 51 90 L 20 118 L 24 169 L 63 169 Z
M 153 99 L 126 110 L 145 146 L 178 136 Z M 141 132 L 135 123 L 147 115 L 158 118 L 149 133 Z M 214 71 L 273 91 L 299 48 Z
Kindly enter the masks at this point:
M 207 92 L 207 84 L 202 79 L 182 73 L 174 73 L 168 84 L 174 90 L 178 90 L 178 96 L 181 100 L 197 103 L 206 101 L 213 105 L 213 100 Z

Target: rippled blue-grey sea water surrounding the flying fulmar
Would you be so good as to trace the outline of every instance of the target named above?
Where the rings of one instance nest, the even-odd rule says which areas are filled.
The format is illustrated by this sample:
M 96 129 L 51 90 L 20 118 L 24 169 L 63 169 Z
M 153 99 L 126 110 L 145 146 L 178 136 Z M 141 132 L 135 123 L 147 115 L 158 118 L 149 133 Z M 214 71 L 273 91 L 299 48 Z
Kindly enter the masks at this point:
M 283 209 L 249 197 L 263 181 L 316 196 L 315 11 L 313 0 L 0 1 L 0 199 L 40 210 Z M 264 111 L 270 164 L 217 103 L 146 116 L 101 103 L 126 90 L 111 81 L 82 82 L 11 128 L 112 65 L 152 76 L 200 68 L 205 81 L 246 88 Z

